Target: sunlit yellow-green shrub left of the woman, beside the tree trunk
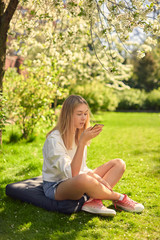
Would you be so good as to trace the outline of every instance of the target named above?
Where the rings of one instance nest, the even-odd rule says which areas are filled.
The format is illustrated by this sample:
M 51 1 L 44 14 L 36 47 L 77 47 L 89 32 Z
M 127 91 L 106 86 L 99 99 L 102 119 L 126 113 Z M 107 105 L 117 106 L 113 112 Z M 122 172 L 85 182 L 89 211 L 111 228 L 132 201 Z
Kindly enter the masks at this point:
M 39 71 L 38 71 L 39 70 Z M 54 121 L 52 103 L 64 90 L 56 83 L 56 77 L 49 77 L 45 68 L 28 72 L 27 77 L 9 69 L 5 74 L 4 94 L 8 118 L 19 126 L 22 137 L 28 139 L 40 119 Z M 54 73 L 54 71 L 53 71 Z M 53 123 L 52 123 L 53 124 Z

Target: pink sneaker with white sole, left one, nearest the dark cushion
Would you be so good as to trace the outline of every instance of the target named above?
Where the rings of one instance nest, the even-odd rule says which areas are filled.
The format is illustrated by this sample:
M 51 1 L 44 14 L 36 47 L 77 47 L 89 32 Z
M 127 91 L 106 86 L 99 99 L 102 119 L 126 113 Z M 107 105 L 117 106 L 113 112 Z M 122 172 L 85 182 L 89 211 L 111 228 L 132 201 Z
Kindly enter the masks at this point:
M 82 206 L 82 211 L 109 217 L 116 215 L 115 210 L 106 208 L 99 199 L 92 199 L 85 202 Z

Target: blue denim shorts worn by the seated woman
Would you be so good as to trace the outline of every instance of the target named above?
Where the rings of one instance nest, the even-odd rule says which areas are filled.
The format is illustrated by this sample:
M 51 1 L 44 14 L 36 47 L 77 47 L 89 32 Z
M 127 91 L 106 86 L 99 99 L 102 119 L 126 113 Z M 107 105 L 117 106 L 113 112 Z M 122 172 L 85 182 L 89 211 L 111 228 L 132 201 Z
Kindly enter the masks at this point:
M 43 181 L 43 191 L 45 196 L 52 200 L 55 200 L 56 189 L 61 182 L 63 182 L 63 180 L 58 182 Z

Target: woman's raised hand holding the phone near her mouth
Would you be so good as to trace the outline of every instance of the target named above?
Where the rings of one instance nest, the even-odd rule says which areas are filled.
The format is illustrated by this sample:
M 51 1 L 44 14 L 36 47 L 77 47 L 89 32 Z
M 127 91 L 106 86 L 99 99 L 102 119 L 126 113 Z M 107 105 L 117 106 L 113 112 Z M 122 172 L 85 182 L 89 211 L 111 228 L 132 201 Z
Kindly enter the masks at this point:
M 93 129 L 92 129 L 92 127 L 87 128 L 81 134 L 79 143 L 82 143 L 82 144 L 86 145 L 87 142 L 90 141 L 92 138 L 97 137 L 100 134 L 101 131 L 102 131 L 102 126 L 97 126 Z

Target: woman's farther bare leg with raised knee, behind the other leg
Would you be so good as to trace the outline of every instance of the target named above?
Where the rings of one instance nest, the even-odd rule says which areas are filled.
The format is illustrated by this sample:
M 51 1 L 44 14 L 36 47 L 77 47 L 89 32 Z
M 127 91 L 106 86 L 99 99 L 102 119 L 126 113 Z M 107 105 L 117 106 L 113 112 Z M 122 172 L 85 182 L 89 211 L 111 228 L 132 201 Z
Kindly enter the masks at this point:
M 106 180 L 113 188 L 121 179 L 126 169 L 125 162 L 122 159 L 113 159 L 100 167 L 94 169 L 94 173 Z

